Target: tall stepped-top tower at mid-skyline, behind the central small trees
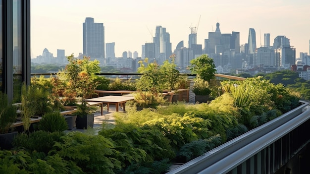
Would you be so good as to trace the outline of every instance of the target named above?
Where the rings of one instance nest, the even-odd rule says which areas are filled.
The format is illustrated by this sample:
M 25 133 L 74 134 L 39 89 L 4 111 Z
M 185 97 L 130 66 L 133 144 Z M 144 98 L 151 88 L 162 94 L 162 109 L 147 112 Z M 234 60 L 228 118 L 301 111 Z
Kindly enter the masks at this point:
M 166 32 L 166 28 L 156 26 L 155 37 L 153 37 L 155 44 L 155 58 L 158 59 L 158 64 L 168 59 L 171 54 L 170 34 Z

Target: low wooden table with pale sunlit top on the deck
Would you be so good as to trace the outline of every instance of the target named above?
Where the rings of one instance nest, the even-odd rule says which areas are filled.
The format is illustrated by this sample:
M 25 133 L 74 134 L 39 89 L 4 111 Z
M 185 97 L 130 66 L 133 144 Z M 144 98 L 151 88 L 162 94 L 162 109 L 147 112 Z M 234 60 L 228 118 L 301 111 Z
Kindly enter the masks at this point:
M 116 112 L 118 112 L 119 104 L 123 106 L 123 111 L 125 111 L 126 102 L 134 100 L 134 97 L 131 96 L 104 96 L 104 97 L 96 97 L 91 99 L 86 99 L 87 102 L 102 102 L 106 104 L 107 111 L 109 111 L 109 104 L 114 104 L 116 108 Z

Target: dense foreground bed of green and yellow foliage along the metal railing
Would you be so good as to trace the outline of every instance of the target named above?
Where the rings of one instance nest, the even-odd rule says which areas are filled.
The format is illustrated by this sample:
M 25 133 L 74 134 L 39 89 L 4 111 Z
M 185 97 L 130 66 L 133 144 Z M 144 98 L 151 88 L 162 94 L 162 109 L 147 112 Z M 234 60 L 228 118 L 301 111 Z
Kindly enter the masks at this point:
M 224 81 L 210 103 L 160 104 L 114 114 L 97 133 L 20 133 L 0 151 L 0 173 L 163 174 L 299 106 L 300 95 L 262 77 Z M 56 121 L 54 121 L 56 122 Z

